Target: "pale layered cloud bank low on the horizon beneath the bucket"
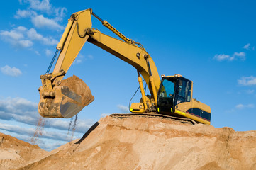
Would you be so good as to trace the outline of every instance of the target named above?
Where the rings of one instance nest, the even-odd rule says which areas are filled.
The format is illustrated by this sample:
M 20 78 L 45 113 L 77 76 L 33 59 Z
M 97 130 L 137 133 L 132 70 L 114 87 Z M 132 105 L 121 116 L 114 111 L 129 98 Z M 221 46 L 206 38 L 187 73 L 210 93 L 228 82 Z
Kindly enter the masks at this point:
M 18 138 L 21 138 L 19 135 L 22 135 L 22 139 L 31 139 L 31 137 L 33 137 L 35 134 L 37 128 L 36 125 L 38 125 L 38 121 L 40 120 L 39 113 L 37 112 L 37 106 L 37 103 L 28 101 L 25 98 L 0 99 L 0 119 L 18 122 L 16 123 L 17 125 L 0 123 L 0 129 L 6 130 L 6 134 L 18 134 L 13 135 L 17 136 Z M 42 135 L 38 136 L 41 140 L 43 140 L 43 143 L 40 143 L 40 140 L 39 143 L 37 143 L 40 145 L 40 147 L 45 147 L 45 149 L 55 149 L 56 147 L 62 145 L 63 142 L 69 142 L 71 140 L 70 134 L 67 132 L 70 124 L 69 120 L 56 118 L 44 119 L 45 123 L 39 130 Z M 87 132 L 87 130 L 89 130 L 93 124 L 94 121 L 92 120 L 78 119 L 74 131 L 74 137 L 72 137 L 72 139 L 82 137 L 84 132 Z M 31 125 L 34 128 L 28 128 L 31 127 Z M 38 138 L 35 140 L 38 140 Z M 48 144 L 50 143 L 52 145 L 56 144 L 56 146 L 49 147 Z

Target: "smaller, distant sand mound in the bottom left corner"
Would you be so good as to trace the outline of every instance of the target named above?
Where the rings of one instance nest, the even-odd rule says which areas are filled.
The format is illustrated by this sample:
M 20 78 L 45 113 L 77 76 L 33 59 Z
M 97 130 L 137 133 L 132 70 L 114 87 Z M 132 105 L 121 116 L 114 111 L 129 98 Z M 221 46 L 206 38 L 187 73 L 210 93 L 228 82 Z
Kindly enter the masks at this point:
M 47 151 L 38 145 L 30 145 L 15 137 L 0 133 L 0 169 L 18 169 L 25 166 L 31 159 L 43 157 Z

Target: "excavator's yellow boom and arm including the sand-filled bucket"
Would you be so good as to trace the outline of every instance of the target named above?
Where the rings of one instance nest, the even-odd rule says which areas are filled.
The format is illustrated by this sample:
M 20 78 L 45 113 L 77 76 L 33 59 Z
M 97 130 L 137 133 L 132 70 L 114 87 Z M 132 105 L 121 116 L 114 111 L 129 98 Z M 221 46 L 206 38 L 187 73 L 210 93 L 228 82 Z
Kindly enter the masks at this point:
M 92 15 L 98 18 L 104 26 L 113 31 L 122 40 L 105 35 L 96 28 L 91 28 Z M 70 82 L 65 86 L 62 85 L 65 73 L 87 41 L 133 65 L 138 71 L 139 79 L 141 79 L 141 74 L 148 84 L 150 93 L 155 101 L 157 100 L 157 91 L 161 81 L 157 67 L 148 52 L 145 51 L 140 43 L 126 38 L 107 21 L 96 16 L 91 9 L 87 9 L 73 13 L 70 16 L 67 27 L 56 47 L 56 54 L 60 51 L 60 55 L 57 57 L 53 72 L 49 73 L 50 66 L 48 72 L 40 76 L 43 85 L 39 88 L 40 103 L 38 105 L 38 112 L 40 115 L 50 118 L 70 118 L 94 100 L 89 87 L 81 79 L 77 79 L 76 84 L 84 84 L 84 86 L 79 88 L 79 91 L 86 91 L 82 95 L 77 94 L 79 91 L 74 91 L 72 87 L 68 86 L 72 84 L 71 80 L 65 80 Z M 83 96 L 87 98 L 85 103 L 82 101 Z M 145 101 L 145 94 L 143 94 L 143 98 Z M 148 108 L 145 102 L 144 107 Z

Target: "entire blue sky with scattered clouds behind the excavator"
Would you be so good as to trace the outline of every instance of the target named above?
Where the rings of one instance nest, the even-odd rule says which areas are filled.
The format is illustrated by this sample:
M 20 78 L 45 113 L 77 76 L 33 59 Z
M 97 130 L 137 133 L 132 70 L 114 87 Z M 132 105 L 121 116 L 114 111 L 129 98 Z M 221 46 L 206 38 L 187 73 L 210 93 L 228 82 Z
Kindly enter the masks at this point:
M 256 130 L 255 6 L 254 1 L 4 1 L 0 132 L 30 141 L 39 116 L 39 77 L 69 16 L 87 8 L 140 42 L 159 74 L 194 81 L 194 98 L 211 106 L 211 125 Z M 115 36 L 96 19 L 93 27 Z M 82 137 L 104 115 L 128 112 L 138 88 L 137 72 L 129 64 L 87 42 L 65 78 L 73 74 L 95 97 L 79 113 L 74 137 Z M 133 102 L 139 100 L 140 93 Z M 54 149 L 68 142 L 68 128 L 69 120 L 46 119 L 38 145 Z

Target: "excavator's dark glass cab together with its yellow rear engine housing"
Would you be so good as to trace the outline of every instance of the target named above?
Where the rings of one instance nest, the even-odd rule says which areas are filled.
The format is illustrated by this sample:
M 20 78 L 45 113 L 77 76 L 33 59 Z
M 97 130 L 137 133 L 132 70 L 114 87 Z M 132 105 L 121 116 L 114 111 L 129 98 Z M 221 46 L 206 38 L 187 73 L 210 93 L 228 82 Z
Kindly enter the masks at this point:
M 190 118 L 197 123 L 211 123 L 211 108 L 192 99 L 192 81 L 179 74 L 162 76 L 157 94 L 157 113 Z

